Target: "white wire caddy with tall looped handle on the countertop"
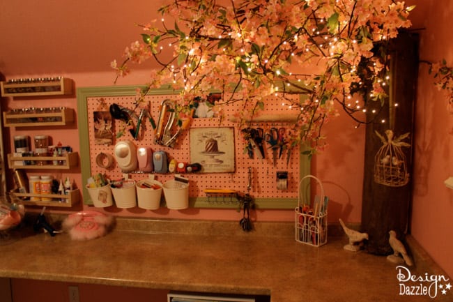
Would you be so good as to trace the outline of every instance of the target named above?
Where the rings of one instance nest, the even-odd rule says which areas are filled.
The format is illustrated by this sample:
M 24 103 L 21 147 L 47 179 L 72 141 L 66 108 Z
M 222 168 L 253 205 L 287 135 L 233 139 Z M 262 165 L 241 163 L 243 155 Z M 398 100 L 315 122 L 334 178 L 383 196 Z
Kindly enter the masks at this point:
M 313 202 L 306 204 L 302 197 L 302 183 L 305 179 L 315 179 L 321 188 L 321 196 L 316 195 Z M 298 207 L 295 208 L 295 241 L 309 246 L 323 246 L 327 243 L 327 203 L 321 181 L 313 175 L 302 177 L 298 187 Z M 310 197 L 308 197 L 310 198 Z

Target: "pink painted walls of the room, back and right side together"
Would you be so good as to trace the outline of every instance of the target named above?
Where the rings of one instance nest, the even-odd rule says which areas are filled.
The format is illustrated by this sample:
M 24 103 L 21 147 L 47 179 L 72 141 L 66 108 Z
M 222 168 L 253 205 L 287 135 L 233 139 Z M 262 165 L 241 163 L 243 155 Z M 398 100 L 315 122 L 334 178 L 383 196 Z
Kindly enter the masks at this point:
M 421 31 L 422 59 L 447 59 L 453 65 L 449 27 L 452 1 L 410 0 L 418 7 L 413 13 L 415 28 Z M 441 2 L 441 4 L 439 4 Z M 62 75 L 76 86 L 111 85 L 114 74 L 109 70 L 112 59 L 120 59 L 123 48 L 139 39 L 135 22 L 146 23 L 162 1 L 137 0 L 134 6 L 124 1 L 1 1 L 0 72 L 7 78 Z M 33 31 L 30 29 L 33 28 Z M 143 70 L 143 69 L 142 69 Z M 135 71 L 118 84 L 146 82 L 144 71 Z M 68 98 L 75 107 L 75 97 Z M 22 101 L 21 101 L 22 102 Z M 27 101 L 27 102 L 31 102 Z M 26 102 L 21 106 L 28 106 Z M 4 106 L 2 104 L 2 106 Z M 452 230 L 452 191 L 443 181 L 452 176 L 452 117 L 445 110 L 445 98 L 431 85 L 427 68 L 420 69 L 418 87 L 412 234 L 449 275 L 453 275 L 449 241 Z M 4 108 L 4 107 L 3 107 Z M 3 110 L 3 109 L 2 109 Z M 330 147 L 316 156 L 313 174 L 325 183 L 329 195 L 329 220 L 341 217 L 360 222 L 363 176 L 364 128 L 353 129 L 351 120 L 341 116 L 327 125 Z M 78 150 L 77 129 L 70 131 Z M 65 139 L 66 139 L 65 135 Z M 69 139 L 68 139 L 69 140 Z M 69 142 L 68 142 L 69 143 Z M 82 179 L 75 175 L 82 186 Z M 83 180 L 84 181 L 84 180 Z M 121 215 L 130 215 L 121 211 Z M 229 219 L 239 218 L 236 211 L 170 211 L 164 218 Z M 293 220 L 293 211 L 259 211 L 258 220 Z

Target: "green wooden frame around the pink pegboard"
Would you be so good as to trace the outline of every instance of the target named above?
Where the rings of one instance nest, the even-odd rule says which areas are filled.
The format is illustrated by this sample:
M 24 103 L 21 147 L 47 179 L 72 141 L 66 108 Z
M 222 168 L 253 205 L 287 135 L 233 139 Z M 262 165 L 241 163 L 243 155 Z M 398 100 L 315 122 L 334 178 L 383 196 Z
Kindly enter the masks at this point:
M 87 100 L 93 97 L 116 97 L 116 96 L 135 96 L 137 88 L 143 89 L 142 85 L 128 85 L 128 86 L 94 86 L 94 87 L 81 87 L 77 88 L 77 121 L 79 127 L 79 142 L 80 142 L 80 163 L 82 172 L 82 181 L 86 181 L 91 177 L 91 163 L 89 159 L 90 146 L 87 144 L 87 137 L 89 137 L 89 114 Z M 160 89 L 152 89 L 148 95 L 169 95 L 175 94 L 178 91 L 162 87 Z M 302 155 L 305 147 L 300 147 L 300 160 L 299 160 L 299 179 L 303 176 L 310 174 L 310 160 L 307 156 Z M 84 197 L 84 204 L 92 205 L 89 193 L 86 187 L 83 186 L 82 194 Z M 237 208 L 237 204 L 223 204 L 210 202 L 210 197 L 190 197 L 190 207 L 194 208 L 210 208 L 210 209 L 228 209 Z M 294 209 L 298 204 L 297 197 L 295 198 L 254 198 L 254 203 L 257 209 Z

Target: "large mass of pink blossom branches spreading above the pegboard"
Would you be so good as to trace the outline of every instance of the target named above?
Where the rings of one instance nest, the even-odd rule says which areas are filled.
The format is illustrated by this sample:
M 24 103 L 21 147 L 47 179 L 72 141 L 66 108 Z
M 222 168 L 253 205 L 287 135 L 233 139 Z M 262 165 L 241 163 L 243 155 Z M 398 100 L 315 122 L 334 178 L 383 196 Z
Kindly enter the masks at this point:
M 303 102 L 291 104 L 299 110 L 293 145 L 312 142 L 314 149 L 325 146 L 321 128 L 337 116 L 335 102 L 344 104 L 356 92 L 351 87 L 363 85 L 360 68 L 371 73 L 372 95 L 385 96 L 387 58 L 373 49 L 410 27 L 411 8 L 393 0 L 222 3 L 173 0 L 160 13 L 178 20 L 175 27 L 143 26 L 143 43 L 132 43 L 124 63 L 112 67 L 124 76 L 128 63 L 155 59 L 162 68 L 152 72 L 148 86 L 181 89 L 183 107 L 213 90 L 223 92 L 225 105 L 243 100 L 266 106 L 275 93 L 303 94 Z M 160 59 L 169 52 L 170 59 Z

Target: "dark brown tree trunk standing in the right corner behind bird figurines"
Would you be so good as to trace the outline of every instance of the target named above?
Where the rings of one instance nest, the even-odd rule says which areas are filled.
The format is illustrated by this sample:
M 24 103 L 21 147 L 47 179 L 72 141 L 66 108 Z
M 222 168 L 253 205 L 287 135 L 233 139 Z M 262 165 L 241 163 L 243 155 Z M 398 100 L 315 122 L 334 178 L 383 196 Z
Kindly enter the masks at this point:
M 401 32 L 390 43 L 391 84 L 389 98 L 378 118 L 367 124 L 365 142 L 364 183 L 362 200 L 362 231 L 369 234 L 366 250 L 372 254 L 388 255 L 392 252 L 388 243 L 390 230 L 399 236 L 408 232 L 412 192 L 413 120 L 418 71 L 418 36 Z M 395 107 L 394 104 L 398 106 Z M 385 123 L 381 121 L 385 119 Z M 394 137 L 410 133 L 402 147 L 406 156 L 409 181 L 404 186 L 385 186 L 374 181 L 375 156 L 383 142 L 375 131 L 385 137 L 385 130 L 393 130 Z

